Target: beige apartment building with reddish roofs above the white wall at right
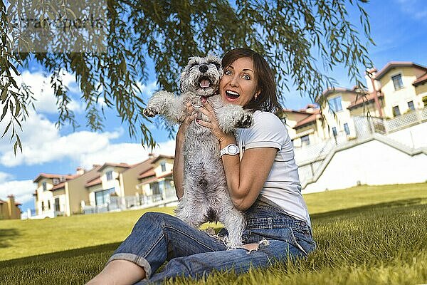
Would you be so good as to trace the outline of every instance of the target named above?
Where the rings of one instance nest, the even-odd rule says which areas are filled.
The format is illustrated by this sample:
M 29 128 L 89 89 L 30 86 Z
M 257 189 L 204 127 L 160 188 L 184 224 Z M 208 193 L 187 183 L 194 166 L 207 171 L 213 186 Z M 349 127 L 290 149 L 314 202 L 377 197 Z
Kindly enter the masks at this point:
M 330 138 L 356 137 L 354 117 L 395 118 L 427 105 L 427 68 L 411 62 L 390 62 L 366 76 L 368 90 L 332 88 L 318 96 L 317 105 L 284 110 L 295 147 Z M 322 106 L 320 108 L 319 106 Z

